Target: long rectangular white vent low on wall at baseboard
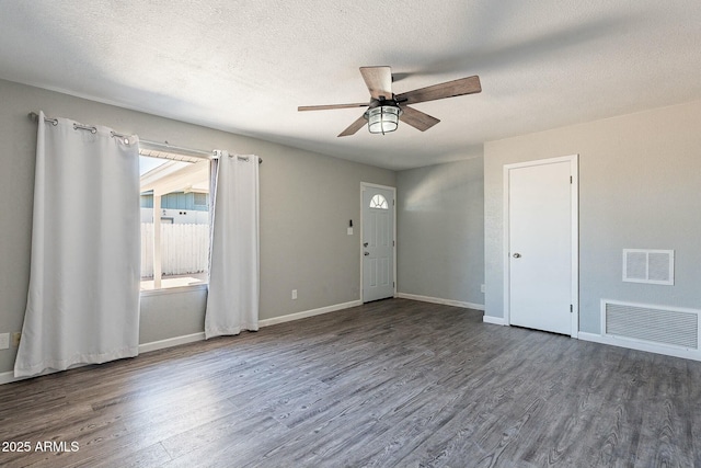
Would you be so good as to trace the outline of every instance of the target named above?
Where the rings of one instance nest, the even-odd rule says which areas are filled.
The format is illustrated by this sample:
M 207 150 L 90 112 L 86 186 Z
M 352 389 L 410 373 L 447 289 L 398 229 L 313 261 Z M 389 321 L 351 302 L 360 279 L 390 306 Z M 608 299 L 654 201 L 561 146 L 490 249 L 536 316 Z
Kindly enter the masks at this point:
M 699 350 L 699 310 L 601 300 L 602 334 Z

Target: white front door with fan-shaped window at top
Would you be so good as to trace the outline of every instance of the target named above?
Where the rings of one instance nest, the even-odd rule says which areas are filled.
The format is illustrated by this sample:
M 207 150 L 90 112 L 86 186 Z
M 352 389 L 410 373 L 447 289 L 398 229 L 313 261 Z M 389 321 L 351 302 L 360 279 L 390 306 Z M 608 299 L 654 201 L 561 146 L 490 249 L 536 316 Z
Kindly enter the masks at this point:
M 363 301 L 394 296 L 394 190 L 363 190 Z

